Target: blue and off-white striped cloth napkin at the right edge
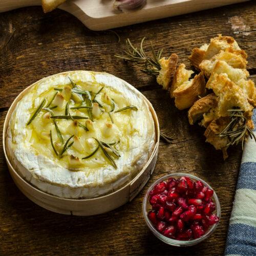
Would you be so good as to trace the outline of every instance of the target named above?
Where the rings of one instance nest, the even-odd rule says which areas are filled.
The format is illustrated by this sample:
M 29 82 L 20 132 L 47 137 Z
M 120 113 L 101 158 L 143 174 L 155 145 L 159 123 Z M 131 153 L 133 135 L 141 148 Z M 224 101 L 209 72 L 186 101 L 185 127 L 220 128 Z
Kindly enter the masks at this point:
M 256 127 L 256 110 L 252 120 Z M 225 255 L 256 255 L 256 143 L 250 138 L 245 142 Z

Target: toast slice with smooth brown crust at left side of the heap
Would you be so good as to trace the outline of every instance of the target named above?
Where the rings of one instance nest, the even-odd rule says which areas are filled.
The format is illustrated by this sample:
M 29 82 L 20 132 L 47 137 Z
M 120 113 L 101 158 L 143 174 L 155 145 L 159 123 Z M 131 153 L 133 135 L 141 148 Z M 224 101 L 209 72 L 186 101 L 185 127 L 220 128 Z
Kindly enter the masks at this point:
M 175 105 L 179 110 L 190 108 L 198 97 L 206 94 L 204 74 L 201 72 L 194 79 L 185 81 L 174 91 Z

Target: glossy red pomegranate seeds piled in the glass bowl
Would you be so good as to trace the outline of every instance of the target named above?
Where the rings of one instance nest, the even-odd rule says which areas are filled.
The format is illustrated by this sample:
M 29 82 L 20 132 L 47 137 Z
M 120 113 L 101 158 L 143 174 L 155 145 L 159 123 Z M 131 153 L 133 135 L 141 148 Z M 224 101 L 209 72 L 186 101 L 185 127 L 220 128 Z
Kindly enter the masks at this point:
M 169 178 L 150 191 L 152 210 L 148 218 L 168 238 L 185 241 L 200 238 L 209 226 L 219 222 L 219 217 L 212 214 L 216 209 L 212 195 L 214 190 L 201 181 Z

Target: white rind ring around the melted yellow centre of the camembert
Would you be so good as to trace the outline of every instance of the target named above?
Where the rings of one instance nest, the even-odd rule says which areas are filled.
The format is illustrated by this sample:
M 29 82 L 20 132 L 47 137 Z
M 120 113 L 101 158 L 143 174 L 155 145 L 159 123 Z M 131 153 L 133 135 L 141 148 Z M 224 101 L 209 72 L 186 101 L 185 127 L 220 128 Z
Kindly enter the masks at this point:
M 40 97 L 47 90 L 69 85 L 68 75 L 74 82 L 100 83 L 123 95 L 129 104 L 137 106 L 138 111 L 130 112 L 132 127 L 129 127 L 136 133 L 131 138 L 123 138 L 129 139 L 129 152 L 120 151 L 121 157 L 115 159 L 117 169 L 109 164 L 93 167 L 92 170 L 85 167 L 73 172 L 54 158 L 38 154 L 31 146 L 31 130 L 26 124 L 30 118 L 28 111 L 32 108 L 32 102 L 35 102 L 37 108 L 41 103 Z M 35 87 L 36 90 L 33 90 Z M 154 121 L 148 105 L 130 84 L 107 73 L 74 71 L 40 80 L 17 103 L 8 126 L 6 150 L 17 172 L 40 190 L 62 198 L 94 198 L 111 193 L 130 181 L 150 158 L 155 137 Z

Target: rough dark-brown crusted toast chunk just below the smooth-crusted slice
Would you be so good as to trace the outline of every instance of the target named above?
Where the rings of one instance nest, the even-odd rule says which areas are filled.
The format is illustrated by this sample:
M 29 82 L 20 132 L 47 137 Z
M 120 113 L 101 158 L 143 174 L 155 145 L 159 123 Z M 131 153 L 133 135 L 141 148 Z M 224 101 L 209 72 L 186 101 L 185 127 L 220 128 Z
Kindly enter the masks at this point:
M 212 108 L 216 108 L 217 105 L 218 97 L 214 93 L 197 100 L 188 111 L 189 123 L 194 124 L 197 120 L 202 119 L 204 113 L 209 112 Z

